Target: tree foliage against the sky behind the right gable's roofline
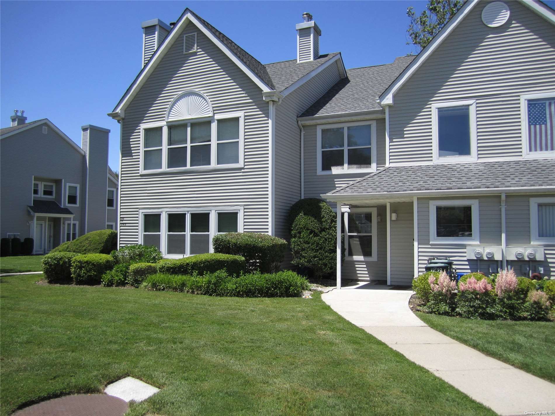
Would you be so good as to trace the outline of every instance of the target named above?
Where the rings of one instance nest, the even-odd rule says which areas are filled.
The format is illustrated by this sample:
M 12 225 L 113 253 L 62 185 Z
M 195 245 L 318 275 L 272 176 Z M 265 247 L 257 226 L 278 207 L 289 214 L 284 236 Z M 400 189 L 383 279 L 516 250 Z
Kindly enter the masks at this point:
M 411 19 L 407 33 L 418 51 L 426 47 L 430 40 L 447 24 L 449 19 L 458 12 L 466 0 L 429 0 L 426 10 L 419 16 L 414 8 L 407 9 L 407 16 Z

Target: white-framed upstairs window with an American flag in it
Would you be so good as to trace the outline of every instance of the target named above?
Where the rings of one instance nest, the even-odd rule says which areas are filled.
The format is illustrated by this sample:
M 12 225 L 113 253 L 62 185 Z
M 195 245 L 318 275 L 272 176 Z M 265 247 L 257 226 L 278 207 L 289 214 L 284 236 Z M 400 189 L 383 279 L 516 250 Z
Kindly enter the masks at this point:
M 525 158 L 555 156 L 555 92 L 521 96 Z

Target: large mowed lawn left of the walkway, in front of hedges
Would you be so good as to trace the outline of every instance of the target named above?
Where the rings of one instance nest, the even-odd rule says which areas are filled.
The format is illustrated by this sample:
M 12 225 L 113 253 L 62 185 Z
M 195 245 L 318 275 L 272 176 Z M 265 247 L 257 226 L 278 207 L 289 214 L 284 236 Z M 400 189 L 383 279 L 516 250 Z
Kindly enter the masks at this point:
M 133 376 L 128 415 L 493 415 L 319 295 L 219 298 L 0 279 L 0 413 Z

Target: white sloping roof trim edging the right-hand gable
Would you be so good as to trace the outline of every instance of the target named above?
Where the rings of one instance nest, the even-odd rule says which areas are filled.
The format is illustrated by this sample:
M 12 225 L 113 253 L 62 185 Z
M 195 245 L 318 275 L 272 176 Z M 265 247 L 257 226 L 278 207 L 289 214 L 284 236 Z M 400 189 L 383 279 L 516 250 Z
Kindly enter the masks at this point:
M 555 11 L 537 0 L 518 0 L 521 4 L 531 9 L 534 13 L 546 19 L 548 22 L 555 24 Z M 459 23 L 472 11 L 478 4 L 478 0 L 468 0 L 460 10 L 451 18 L 449 22 L 441 29 L 439 33 L 423 48 L 416 59 L 411 62 L 403 72 L 398 75 L 397 79 L 380 95 L 380 104 L 393 105 L 393 95 L 407 82 L 407 80 L 416 72 L 418 68 L 430 57 L 430 55 L 443 43 L 448 35 L 451 34 Z

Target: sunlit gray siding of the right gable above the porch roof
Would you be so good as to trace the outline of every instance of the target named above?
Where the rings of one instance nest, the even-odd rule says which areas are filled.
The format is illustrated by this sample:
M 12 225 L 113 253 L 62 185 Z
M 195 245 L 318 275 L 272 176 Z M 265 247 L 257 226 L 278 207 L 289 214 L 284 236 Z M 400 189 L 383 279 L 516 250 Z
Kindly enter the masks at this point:
M 518 2 L 499 28 L 480 2 L 395 94 L 390 163 L 432 161 L 431 104 L 476 100 L 478 159 L 522 156 L 519 95 L 555 89 L 553 24 Z

